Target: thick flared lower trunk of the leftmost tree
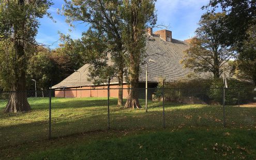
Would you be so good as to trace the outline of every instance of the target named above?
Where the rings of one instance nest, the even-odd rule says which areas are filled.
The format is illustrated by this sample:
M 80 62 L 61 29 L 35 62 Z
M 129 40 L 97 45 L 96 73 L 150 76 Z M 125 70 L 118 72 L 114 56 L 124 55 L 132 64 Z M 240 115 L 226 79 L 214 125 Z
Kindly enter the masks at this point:
M 6 105 L 5 113 L 17 113 L 17 111 L 31 110 L 31 107 L 27 102 L 27 92 L 25 91 L 25 87 L 25 71 L 22 71 L 17 82 L 11 87 L 11 91 L 13 92 L 10 93 L 10 98 Z

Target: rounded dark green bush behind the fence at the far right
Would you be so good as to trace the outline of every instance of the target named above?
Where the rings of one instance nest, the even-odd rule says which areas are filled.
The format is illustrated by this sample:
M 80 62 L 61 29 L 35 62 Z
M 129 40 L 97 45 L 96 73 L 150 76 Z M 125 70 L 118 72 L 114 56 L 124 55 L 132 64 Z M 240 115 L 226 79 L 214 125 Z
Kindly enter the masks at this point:
M 253 100 L 253 85 L 248 82 L 228 79 L 228 88 L 225 89 L 225 104 L 238 104 L 238 94 L 240 104 Z M 208 92 L 209 98 L 222 104 L 223 102 L 223 80 L 215 79 Z

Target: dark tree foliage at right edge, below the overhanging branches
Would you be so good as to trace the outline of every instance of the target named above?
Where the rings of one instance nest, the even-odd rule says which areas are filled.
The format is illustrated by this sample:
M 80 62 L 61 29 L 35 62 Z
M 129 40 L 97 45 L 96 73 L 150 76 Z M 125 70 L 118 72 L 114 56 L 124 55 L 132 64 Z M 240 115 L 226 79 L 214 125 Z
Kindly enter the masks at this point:
M 239 49 L 238 59 L 235 60 L 235 75 L 242 79 L 251 79 L 256 84 L 256 26 L 251 26 L 247 40 Z

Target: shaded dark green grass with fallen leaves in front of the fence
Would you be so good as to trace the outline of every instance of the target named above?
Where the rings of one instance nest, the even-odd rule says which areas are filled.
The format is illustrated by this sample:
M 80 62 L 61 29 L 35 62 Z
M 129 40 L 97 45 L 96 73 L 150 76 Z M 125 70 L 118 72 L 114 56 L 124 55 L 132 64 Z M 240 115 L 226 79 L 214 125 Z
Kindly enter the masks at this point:
M 51 143 L 47 140 L 45 143 L 49 143 L 49 146 L 44 143 L 36 147 L 27 145 L 14 153 L 16 156 L 21 154 L 19 159 L 256 158 L 255 129 L 110 131 L 84 136 L 66 137 L 52 140 Z M 9 152 L 13 154 L 11 150 Z

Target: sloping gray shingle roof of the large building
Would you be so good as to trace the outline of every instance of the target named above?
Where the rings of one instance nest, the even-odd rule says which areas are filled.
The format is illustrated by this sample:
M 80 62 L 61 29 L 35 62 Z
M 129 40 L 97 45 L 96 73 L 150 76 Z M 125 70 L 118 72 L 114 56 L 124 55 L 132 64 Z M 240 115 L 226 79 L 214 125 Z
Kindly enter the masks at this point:
M 187 74 L 191 73 L 191 70 L 183 68 L 180 64 L 185 51 L 188 49 L 188 43 L 172 39 L 172 42 L 166 42 L 159 36 L 150 36 L 146 42 L 146 53 L 148 59 L 153 59 L 156 62 L 148 63 L 148 82 L 158 82 L 159 77 L 164 77 L 167 82 L 172 82 L 180 78 L 185 78 Z M 81 72 L 81 85 L 92 86 L 93 83 L 87 80 L 88 67 L 86 64 L 78 71 Z M 145 82 L 145 69 L 146 65 L 141 65 L 140 82 Z M 113 79 L 111 83 L 117 84 L 117 79 Z M 53 88 L 63 87 L 78 87 L 80 86 L 79 72 L 74 72 L 61 83 L 53 86 Z

